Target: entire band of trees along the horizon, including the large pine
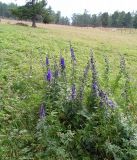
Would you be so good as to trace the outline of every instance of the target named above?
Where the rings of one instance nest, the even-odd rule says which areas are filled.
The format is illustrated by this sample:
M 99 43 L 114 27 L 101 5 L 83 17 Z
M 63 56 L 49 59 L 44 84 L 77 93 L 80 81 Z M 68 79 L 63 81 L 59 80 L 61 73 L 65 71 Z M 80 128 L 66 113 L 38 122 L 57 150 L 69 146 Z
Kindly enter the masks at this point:
M 5 4 L 0 2 L 0 16 L 16 18 L 19 20 L 32 20 L 32 26 L 36 26 L 36 21 L 43 23 L 73 25 L 81 27 L 126 27 L 137 28 L 137 12 L 115 11 L 99 14 L 89 14 L 87 10 L 82 14 L 74 13 L 71 20 L 61 16 L 61 12 L 55 12 L 45 0 L 30 0 L 24 6 L 17 6 L 14 3 Z M 71 21 L 71 23 L 70 23 Z

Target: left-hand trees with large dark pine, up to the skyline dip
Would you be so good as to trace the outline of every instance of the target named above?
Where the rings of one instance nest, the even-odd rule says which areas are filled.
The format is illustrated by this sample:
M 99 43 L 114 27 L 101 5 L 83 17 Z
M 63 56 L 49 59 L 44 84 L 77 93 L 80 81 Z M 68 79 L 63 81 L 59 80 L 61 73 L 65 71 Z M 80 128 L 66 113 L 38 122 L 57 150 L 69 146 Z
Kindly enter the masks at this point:
M 45 0 L 30 0 L 24 6 L 17 6 L 14 3 L 6 4 L 0 2 L 0 17 L 14 18 L 18 20 L 33 20 L 43 23 L 70 25 L 68 17 L 61 16 L 61 12 L 55 12 L 51 6 L 46 7 Z M 33 26 L 35 26 L 33 22 Z

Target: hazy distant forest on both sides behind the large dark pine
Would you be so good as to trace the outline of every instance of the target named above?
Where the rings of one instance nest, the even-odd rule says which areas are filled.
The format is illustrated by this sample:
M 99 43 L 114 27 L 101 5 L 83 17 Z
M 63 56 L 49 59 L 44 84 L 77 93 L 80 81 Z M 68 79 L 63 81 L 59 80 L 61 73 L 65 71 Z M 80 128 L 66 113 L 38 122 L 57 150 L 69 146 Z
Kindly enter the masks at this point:
M 17 5 L 5 4 L 0 2 L 0 17 L 16 18 L 12 15 L 11 10 L 15 9 Z M 137 28 L 137 12 L 115 11 L 113 14 L 108 12 L 99 14 L 89 14 L 87 10 L 83 14 L 74 13 L 71 20 L 68 17 L 61 16 L 61 12 L 55 12 L 51 7 L 45 8 L 43 15 L 37 17 L 37 21 L 44 23 L 73 25 L 81 27 L 125 27 Z

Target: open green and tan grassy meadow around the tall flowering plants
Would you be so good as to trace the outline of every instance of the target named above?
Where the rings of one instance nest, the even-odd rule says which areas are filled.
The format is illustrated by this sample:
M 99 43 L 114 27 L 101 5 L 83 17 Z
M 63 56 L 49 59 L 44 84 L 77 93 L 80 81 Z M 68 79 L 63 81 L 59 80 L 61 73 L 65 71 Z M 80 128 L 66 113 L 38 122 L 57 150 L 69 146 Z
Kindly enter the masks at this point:
M 41 135 L 41 133 L 37 131 L 36 126 L 39 121 L 39 108 L 45 96 L 44 74 L 46 70 L 43 68 L 43 63 L 45 63 L 46 55 L 48 55 L 51 68 L 53 68 L 53 57 L 56 57 L 58 60 L 57 63 L 59 63 L 61 54 L 66 63 L 66 77 L 69 79 L 68 81 L 71 85 L 70 41 L 77 60 L 75 71 L 77 78 L 75 82 L 78 82 L 83 75 L 84 68 L 90 57 L 90 49 L 92 49 L 96 61 L 99 82 L 106 92 L 113 90 L 117 75 L 119 74 L 120 55 L 124 56 L 132 92 L 132 103 L 130 102 L 126 107 L 131 110 L 133 108 L 134 113 L 132 114 L 136 117 L 137 30 L 80 28 L 59 25 L 38 25 L 38 28 L 31 28 L 29 26 L 24 27 L 14 24 L 0 24 L 1 160 L 99 159 L 88 156 L 89 153 L 84 155 L 85 152 L 81 151 L 81 149 L 79 149 L 81 153 L 79 153 L 78 156 L 75 156 L 76 154 L 73 153 L 74 155 L 71 155 L 72 157 L 62 148 L 57 151 L 59 154 L 56 155 L 56 157 L 52 157 L 52 149 L 48 149 L 48 151 L 50 150 L 48 155 L 43 154 L 42 152 L 47 149 L 47 147 L 44 148 L 43 146 L 47 144 L 47 142 L 43 142 L 44 145 L 41 144 L 42 141 L 38 142 L 39 139 L 36 136 Z M 106 88 L 104 78 L 104 56 L 106 56 L 109 61 L 108 88 Z M 89 73 L 89 79 L 90 76 L 91 74 Z M 121 98 L 120 90 L 123 82 L 124 80 L 121 79 L 119 81 L 119 88 L 117 88 L 113 94 L 110 94 L 110 97 L 117 102 L 118 106 L 122 106 L 124 101 Z M 90 85 L 90 80 L 87 80 L 86 94 L 88 94 Z M 76 86 L 78 87 L 78 85 Z M 54 106 L 52 107 L 54 108 Z M 48 115 L 51 114 L 51 117 L 48 119 L 49 124 L 56 124 L 53 119 L 57 117 L 57 111 L 52 112 L 52 109 L 49 107 L 47 112 Z M 42 125 L 43 124 L 40 123 L 37 128 Z M 60 124 L 58 125 L 60 126 Z M 47 129 L 48 127 L 46 130 Z M 58 130 L 58 128 L 55 127 L 51 133 L 56 132 L 56 129 Z M 67 134 L 60 129 L 58 132 L 60 132 L 61 137 L 65 140 L 71 139 L 74 136 L 74 132 L 72 131 L 72 133 L 70 133 L 70 128 L 66 130 L 68 131 Z M 53 137 L 49 137 L 49 141 L 55 138 Z M 68 143 L 67 141 L 65 142 Z M 62 142 L 62 144 L 65 144 L 65 142 Z M 52 142 L 51 145 L 54 146 L 54 149 L 57 147 L 55 144 L 56 143 Z M 62 155 L 65 156 L 63 157 Z M 81 158 L 81 155 L 85 157 L 83 156 L 83 158 Z M 112 158 L 107 159 L 111 160 Z M 116 160 L 116 158 L 113 159 Z M 126 160 L 126 158 L 121 158 L 121 160 Z M 129 158 L 129 160 L 133 159 Z

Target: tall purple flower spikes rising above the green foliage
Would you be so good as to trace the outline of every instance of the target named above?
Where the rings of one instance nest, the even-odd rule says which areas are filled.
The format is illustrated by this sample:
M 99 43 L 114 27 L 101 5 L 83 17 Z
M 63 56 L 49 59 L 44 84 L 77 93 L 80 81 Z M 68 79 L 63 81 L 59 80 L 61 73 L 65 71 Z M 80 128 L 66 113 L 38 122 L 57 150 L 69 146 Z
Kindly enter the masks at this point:
M 75 54 L 74 54 L 74 50 L 73 50 L 73 48 L 71 46 L 70 46 L 70 53 L 71 53 L 71 59 L 72 59 L 72 62 L 73 62 L 72 63 L 73 64 L 73 68 L 72 69 L 73 69 L 73 73 L 74 73 L 74 62 L 76 61 L 76 57 L 75 57 Z M 60 70 L 64 71 L 64 69 L 66 68 L 64 57 L 60 56 L 60 62 L 59 63 L 60 63 Z M 46 79 L 46 81 L 51 82 L 53 77 L 57 78 L 59 76 L 59 68 L 58 68 L 58 65 L 56 63 L 56 60 L 55 60 L 55 63 L 54 63 L 54 73 L 53 73 L 53 75 L 52 75 L 52 71 L 50 69 L 48 56 L 46 56 L 46 67 L 47 67 L 47 73 L 45 75 L 45 79 Z M 91 71 L 92 71 L 92 85 L 91 85 L 91 88 L 92 88 L 92 91 L 93 91 L 93 96 L 100 100 L 100 104 L 101 105 L 107 105 L 107 106 L 109 106 L 111 108 L 116 107 L 116 103 L 113 102 L 112 100 L 110 100 L 108 95 L 100 88 L 100 85 L 99 85 L 99 82 L 98 82 L 98 74 L 97 74 L 97 71 L 96 71 L 95 60 L 94 60 L 94 56 L 93 56 L 93 51 L 92 50 L 91 50 L 90 61 L 88 62 L 87 66 L 86 66 L 86 68 L 84 70 L 84 75 L 83 75 L 83 79 L 82 79 L 82 85 L 81 85 L 80 91 L 78 93 L 79 94 L 79 98 L 82 100 L 83 91 L 84 91 L 85 82 L 86 82 L 86 77 L 88 75 L 88 71 L 89 71 L 90 67 L 91 67 Z M 124 70 L 124 68 L 125 68 L 125 61 L 122 58 L 121 59 L 121 70 Z M 75 78 L 72 80 L 71 100 L 74 100 L 76 98 L 76 96 L 77 96 L 76 85 L 75 85 L 74 80 L 75 80 Z M 46 114 L 45 113 L 45 106 L 44 106 L 44 104 L 42 104 L 40 106 L 40 111 L 39 111 L 40 118 L 44 118 L 45 114 Z

